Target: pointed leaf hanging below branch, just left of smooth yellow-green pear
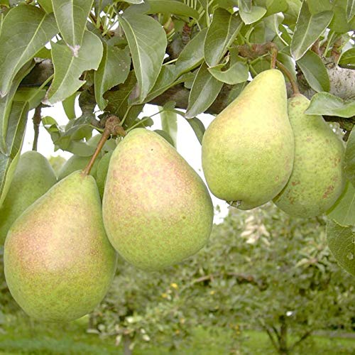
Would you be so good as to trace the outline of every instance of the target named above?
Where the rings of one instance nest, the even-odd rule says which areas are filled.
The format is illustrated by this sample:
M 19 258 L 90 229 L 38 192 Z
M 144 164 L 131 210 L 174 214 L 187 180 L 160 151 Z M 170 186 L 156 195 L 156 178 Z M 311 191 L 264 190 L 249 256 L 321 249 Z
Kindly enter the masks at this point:
M 189 96 L 189 104 L 187 105 L 186 118 L 201 114 L 207 110 L 214 100 L 217 98 L 222 89 L 223 82 L 219 82 L 207 69 L 207 65 L 203 63 L 197 72 L 194 83 Z

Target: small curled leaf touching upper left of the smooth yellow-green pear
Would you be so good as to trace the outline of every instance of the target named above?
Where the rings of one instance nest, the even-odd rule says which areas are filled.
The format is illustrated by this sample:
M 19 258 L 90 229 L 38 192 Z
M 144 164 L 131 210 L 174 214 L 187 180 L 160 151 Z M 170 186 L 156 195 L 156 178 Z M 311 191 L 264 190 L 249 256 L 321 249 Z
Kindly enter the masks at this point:
M 208 71 L 220 82 L 226 84 L 239 84 L 240 82 L 246 82 L 249 77 L 249 66 L 244 62 L 235 62 L 229 69 L 222 72 L 224 64 L 216 65 L 215 67 L 209 67 Z

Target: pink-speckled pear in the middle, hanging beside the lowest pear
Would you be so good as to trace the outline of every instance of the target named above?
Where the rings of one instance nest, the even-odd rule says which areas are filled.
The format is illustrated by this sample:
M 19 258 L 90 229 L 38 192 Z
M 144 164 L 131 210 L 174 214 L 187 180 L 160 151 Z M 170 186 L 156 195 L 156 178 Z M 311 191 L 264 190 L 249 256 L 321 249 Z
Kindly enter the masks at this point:
M 111 155 L 102 214 L 121 256 L 154 271 L 207 243 L 213 205 L 202 179 L 175 148 L 158 133 L 139 128 Z

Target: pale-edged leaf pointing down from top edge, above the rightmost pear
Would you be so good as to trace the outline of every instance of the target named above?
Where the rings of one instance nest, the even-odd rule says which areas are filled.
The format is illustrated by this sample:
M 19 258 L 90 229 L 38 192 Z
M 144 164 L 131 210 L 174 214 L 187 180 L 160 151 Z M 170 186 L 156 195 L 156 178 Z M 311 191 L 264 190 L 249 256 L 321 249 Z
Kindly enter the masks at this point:
M 312 15 L 308 10 L 306 1 L 303 1 L 291 41 L 291 54 L 295 60 L 302 58 L 311 48 L 315 40 L 320 37 L 332 21 L 332 17 L 332 11 L 323 11 Z

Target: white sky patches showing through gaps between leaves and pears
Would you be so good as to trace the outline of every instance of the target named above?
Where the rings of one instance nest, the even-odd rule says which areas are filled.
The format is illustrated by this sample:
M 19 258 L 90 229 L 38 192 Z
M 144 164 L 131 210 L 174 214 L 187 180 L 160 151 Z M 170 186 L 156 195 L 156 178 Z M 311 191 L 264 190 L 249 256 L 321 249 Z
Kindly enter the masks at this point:
M 32 143 L 33 143 L 33 124 L 32 124 L 32 116 L 34 110 L 30 111 L 28 114 L 28 124 L 26 128 L 25 139 L 23 141 L 23 149 L 22 153 L 25 151 L 31 151 Z M 77 116 L 80 116 L 80 107 L 76 105 L 75 112 Z M 151 116 L 158 112 L 158 107 L 153 105 L 146 104 L 144 107 L 143 113 L 140 116 Z M 98 112 L 100 114 L 100 112 Z M 42 116 L 52 116 L 55 121 L 58 122 L 59 125 L 65 126 L 67 124 L 67 116 L 65 115 L 65 111 L 62 108 L 62 104 L 55 104 L 53 107 L 43 108 Z M 207 126 L 214 119 L 214 116 L 209 114 L 201 114 L 199 116 L 200 120 L 203 122 L 204 126 Z M 161 129 L 161 121 L 160 116 L 153 116 L 154 125 L 151 126 L 150 129 Z M 93 134 L 96 134 L 93 132 Z M 202 172 L 202 163 L 201 163 L 201 145 L 195 136 L 195 132 L 192 130 L 190 124 L 182 117 L 178 116 L 178 136 L 177 136 L 177 149 L 180 155 L 189 163 L 192 168 L 201 176 L 202 180 L 204 180 L 204 175 Z M 45 128 L 40 126 L 40 134 L 38 138 L 38 152 L 43 154 L 46 158 L 52 156 L 62 156 L 65 159 L 70 158 L 72 153 L 67 151 L 62 151 L 59 149 L 58 151 L 54 151 L 54 145 L 50 138 L 49 133 L 45 130 Z M 206 180 L 204 180 L 206 183 Z M 215 207 L 214 213 L 214 223 L 219 224 L 222 222 L 226 214 L 228 213 L 228 204 L 225 201 L 217 199 L 210 192 L 212 197 L 212 202 Z

